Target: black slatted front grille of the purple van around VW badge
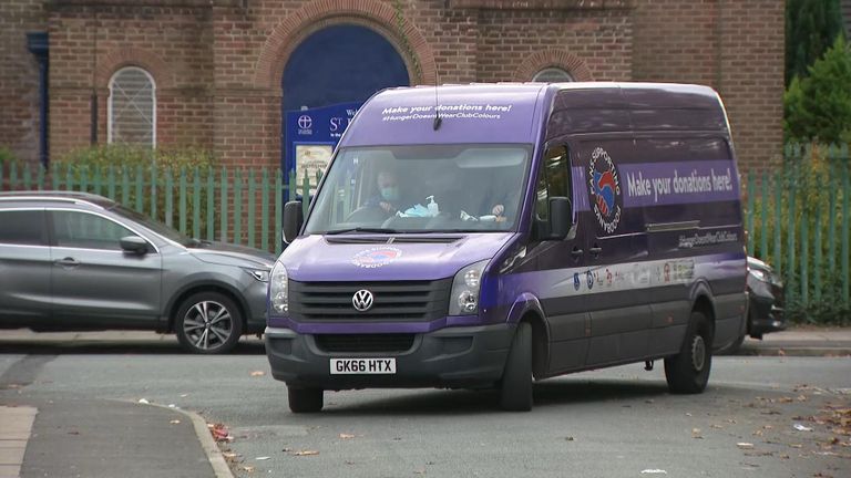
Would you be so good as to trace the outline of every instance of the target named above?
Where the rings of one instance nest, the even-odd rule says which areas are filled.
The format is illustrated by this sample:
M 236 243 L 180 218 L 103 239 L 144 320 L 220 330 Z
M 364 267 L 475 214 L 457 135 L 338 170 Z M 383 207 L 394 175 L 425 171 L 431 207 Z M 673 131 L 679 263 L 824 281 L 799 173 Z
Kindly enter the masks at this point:
M 449 313 L 452 279 L 398 282 L 289 281 L 289 314 L 297 322 L 417 322 Z M 372 306 L 355 309 L 355 293 L 372 293 Z

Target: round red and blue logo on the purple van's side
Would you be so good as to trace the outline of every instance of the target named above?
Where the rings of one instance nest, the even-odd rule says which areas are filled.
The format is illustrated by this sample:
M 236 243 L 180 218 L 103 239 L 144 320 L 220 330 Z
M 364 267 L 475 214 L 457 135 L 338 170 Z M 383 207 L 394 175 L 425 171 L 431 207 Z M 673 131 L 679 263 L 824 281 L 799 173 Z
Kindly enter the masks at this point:
M 624 198 L 617 167 L 602 147 L 597 147 L 591 154 L 588 194 L 601 229 L 607 235 L 614 233 L 621 222 Z

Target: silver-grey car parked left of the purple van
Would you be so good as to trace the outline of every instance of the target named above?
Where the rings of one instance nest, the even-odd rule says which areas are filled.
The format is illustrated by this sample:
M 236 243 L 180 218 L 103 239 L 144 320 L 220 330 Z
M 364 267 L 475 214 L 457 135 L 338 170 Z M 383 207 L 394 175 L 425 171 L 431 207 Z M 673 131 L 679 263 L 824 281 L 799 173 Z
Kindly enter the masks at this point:
M 101 196 L 0 194 L 0 329 L 154 330 L 192 352 L 227 352 L 263 332 L 274 263 Z

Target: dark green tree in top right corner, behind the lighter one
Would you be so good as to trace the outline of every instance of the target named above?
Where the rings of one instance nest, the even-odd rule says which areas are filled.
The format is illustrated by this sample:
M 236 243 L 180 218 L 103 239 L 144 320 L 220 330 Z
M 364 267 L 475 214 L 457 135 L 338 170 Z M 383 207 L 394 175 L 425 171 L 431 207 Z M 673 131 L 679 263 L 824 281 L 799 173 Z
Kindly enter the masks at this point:
M 844 38 L 839 0 L 787 0 L 786 84 L 807 76 L 807 69 L 839 35 Z

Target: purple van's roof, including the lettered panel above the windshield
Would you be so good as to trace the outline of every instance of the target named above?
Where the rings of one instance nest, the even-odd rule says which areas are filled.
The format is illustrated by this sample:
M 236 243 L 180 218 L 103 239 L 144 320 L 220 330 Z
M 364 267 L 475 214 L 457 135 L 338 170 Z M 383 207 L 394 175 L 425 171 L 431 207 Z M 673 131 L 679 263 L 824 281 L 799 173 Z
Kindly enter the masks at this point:
M 708 86 L 676 83 L 473 83 L 394 87 L 372 96 L 357 114 L 340 146 L 440 142 L 535 143 L 553 98 L 560 107 L 709 112 L 710 128 L 725 128 L 718 94 Z M 561 101 L 564 98 L 564 101 Z M 437 121 L 435 117 L 440 116 Z M 678 117 L 680 117 L 679 115 Z M 653 122 L 665 124 L 665 122 Z M 670 122 L 668 122 L 670 123 Z M 611 124 L 611 122 L 609 122 Z M 625 125 L 625 126 L 624 126 Z M 689 125 L 691 127 L 694 125 Z M 629 118 L 621 127 L 629 127 Z

